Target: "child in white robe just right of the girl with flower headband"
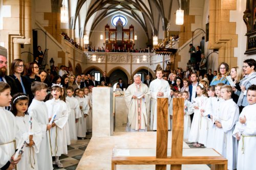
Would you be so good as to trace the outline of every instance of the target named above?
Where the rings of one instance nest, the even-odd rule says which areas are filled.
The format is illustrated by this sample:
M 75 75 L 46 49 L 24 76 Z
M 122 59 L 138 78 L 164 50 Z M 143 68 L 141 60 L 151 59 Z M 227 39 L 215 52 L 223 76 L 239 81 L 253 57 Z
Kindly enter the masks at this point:
M 207 88 L 207 94 L 209 98 L 206 101 L 206 106 L 205 106 L 205 112 L 204 114 L 207 115 L 208 117 L 208 135 L 207 135 L 207 143 L 205 144 L 205 147 L 207 148 L 213 148 L 214 147 L 214 134 L 215 134 L 215 122 L 212 119 L 212 116 L 215 115 L 217 112 L 218 108 L 218 101 L 216 98 L 216 93 L 215 93 L 215 86 L 208 86 Z

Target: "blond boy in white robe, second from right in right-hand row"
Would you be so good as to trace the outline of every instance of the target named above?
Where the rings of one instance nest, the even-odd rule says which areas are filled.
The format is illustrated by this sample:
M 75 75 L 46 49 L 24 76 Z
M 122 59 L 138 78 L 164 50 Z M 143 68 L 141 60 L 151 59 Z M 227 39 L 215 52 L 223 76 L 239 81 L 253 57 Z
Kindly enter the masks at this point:
M 218 151 L 228 160 L 228 169 L 236 169 L 238 142 L 232 136 L 234 125 L 238 122 L 239 108 L 231 99 L 232 88 L 229 85 L 221 87 L 221 97 L 224 100 L 220 106 L 219 121 L 215 125 L 220 131 L 216 132 L 215 142 L 222 150 Z

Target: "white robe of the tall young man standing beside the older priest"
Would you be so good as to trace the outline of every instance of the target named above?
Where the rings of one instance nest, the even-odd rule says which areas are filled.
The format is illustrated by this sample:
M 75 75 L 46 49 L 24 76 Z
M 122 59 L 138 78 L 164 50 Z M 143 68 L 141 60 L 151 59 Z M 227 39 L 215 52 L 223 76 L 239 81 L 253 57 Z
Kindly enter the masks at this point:
M 153 80 L 150 84 L 150 93 L 151 93 L 151 123 L 150 129 L 157 130 L 157 96 L 158 92 L 163 92 L 163 96 L 161 98 L 170 97 L 170 86 L 166 80 L 156 79 Z M 170 129 L 170 119 L 168 118 L 168 129 Z

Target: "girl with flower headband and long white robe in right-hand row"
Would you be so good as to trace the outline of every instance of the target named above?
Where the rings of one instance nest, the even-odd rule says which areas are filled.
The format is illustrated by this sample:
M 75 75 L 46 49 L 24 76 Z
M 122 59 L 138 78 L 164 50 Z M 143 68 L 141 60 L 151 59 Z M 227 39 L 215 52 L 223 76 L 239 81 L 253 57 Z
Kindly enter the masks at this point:
M 204 106 L 207 100 L 206 88 L 202 83 L 197 85 L 197 98 L 194 98 L 193 103 L 194 106 L 194 117 L 191 124 L 191 129 L 188 137 L 189 142 L 194 142 L 195 147 L 201 147 L 206 144 L 207 139 L 207 131 L 205 124 L 207 124 L 207 117 L 204 118 Z

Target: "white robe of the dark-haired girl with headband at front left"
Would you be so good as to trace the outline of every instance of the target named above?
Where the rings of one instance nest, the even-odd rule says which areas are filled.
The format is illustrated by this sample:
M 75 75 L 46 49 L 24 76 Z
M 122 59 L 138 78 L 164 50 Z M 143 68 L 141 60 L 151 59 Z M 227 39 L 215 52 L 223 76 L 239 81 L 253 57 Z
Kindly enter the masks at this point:
M 33 113 L 30 113 L 33 114 Z M 40 126 L 32 119 L 32 129 L 30 126 L 30 116 L 25 114 L 25 116 L 15 117 L 17 126 L 19 128 L 19 133 L 16 135 L 17 143 L 24 143 L 26 140 L 29 143 L 29 135 L 33 135 L 34 145 L 28 147 L 27 144 L 23 148 L 22 159 L 17 164 L 17 169 L 38 169 L 36 153 L 39 152 L 39 147 L 42 139 L 42 132 Z

